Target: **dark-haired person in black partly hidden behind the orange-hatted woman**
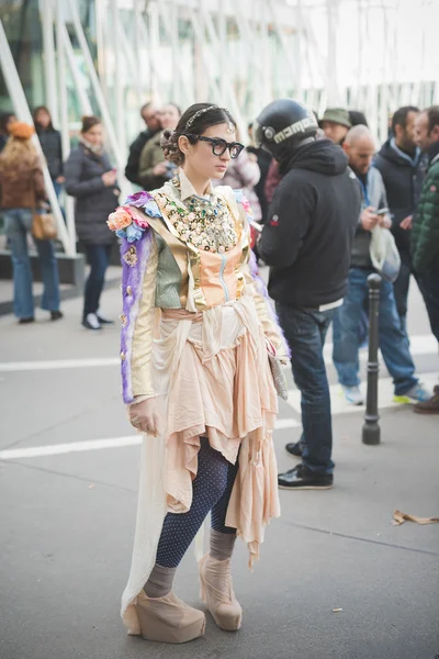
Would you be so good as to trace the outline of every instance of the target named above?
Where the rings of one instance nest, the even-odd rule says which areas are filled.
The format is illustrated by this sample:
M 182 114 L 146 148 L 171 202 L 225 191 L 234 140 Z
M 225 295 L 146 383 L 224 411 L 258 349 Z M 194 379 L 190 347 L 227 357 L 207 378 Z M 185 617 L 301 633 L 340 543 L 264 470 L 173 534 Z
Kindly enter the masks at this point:
M 63 190 L 64 171 L 63 171 L 63 147 L 61 134 L 54 129 L 52 123 L 50 112 L 45 105 L 38 105 L 33 113 L 36 134 L 38 135 L 40 144 L 46 158 L 47 169 L 54 185 L 57 198 Z

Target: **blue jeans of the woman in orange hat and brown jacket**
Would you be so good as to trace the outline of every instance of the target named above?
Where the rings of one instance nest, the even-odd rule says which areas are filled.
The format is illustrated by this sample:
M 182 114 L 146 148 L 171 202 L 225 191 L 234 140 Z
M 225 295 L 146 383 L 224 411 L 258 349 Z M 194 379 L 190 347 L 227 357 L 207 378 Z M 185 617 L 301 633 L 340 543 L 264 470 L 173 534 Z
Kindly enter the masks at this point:
M 4 233 L 9 238 L 12 252 L 14 314 L 19 319 L 30 319 L 34 315 L 31 259 L 27 252 L 27 233 L 32 230 L 32 211 L 30 209 L 7 209 L 3 211 L 3 216 Z M 41 308 L 46 311 L 58 311 L 58 264 L 52 241 L 34 238 L 34 243 L 38 252 L 44 284 Z

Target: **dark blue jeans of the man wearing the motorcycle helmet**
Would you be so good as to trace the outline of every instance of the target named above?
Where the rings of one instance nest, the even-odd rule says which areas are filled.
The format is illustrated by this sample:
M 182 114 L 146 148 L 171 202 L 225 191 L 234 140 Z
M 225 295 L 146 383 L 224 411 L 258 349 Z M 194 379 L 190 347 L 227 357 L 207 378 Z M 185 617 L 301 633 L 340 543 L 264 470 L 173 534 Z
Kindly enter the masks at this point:
M 316 473 L 333 473 L 333 425 L 325 338 L 334 310 L 293 309 L 277 302 L 279 322 L 291 348 L 294 382 L 302 393 L 303 463 Z

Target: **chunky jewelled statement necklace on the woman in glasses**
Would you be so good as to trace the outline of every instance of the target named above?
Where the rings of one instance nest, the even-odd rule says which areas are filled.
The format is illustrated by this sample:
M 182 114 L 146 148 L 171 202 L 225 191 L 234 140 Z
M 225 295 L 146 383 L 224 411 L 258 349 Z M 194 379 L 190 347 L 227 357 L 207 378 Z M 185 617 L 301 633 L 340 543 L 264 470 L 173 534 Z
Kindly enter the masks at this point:
M 172 179 L 172 186 L 181 193 L 180 180 Z M 168 220 L 184 243 L 198 249 L 224 254 L 236 246 L 238 238 L 227 204 L 215 196 L 192 197 L 177 204 L 164 193 L 158 194 Z

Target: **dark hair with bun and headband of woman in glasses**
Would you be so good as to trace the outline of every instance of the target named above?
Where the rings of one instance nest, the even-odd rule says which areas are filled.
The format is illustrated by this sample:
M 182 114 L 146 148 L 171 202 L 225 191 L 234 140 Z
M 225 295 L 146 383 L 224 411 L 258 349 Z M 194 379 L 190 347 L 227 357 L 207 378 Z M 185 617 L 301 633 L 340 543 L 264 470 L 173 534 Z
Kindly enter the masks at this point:
M 168 104 L 173 105 L 175 103 Z M 193 119 L 195 114 L 198 116 Z M 175 165 L 182 165 L 184 163 L 184 155 L 178 145 L 179 137 L 181 135 L 202 135 L 211 126 L 216 126 L 225 122 L 232 122 L 236 127 L 236 121 L 225 108 L 218 108 L 213 103 L 195 103 L 191 105 L 180 118 L 177 129 L 173 132 L 165 131 L 162 134 L 160 146 L 164 149 L 165 158 Z M 190 124 L 189 126 L 188 123 Z M 195 141 L 193 141 L 193 144 L 195 144 Z

